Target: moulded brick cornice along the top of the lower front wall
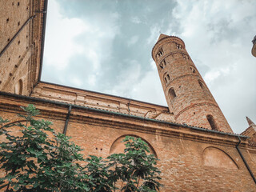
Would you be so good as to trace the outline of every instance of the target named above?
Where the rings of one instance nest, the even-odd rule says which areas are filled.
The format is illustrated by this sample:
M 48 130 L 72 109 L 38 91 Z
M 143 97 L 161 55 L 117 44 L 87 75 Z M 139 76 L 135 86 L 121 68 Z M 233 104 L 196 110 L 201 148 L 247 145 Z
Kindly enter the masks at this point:
M 54 102 L 42 98 L 31 98 L 27 96 L 0 92 L 2 98 L 0 110 L 6 112 L 17 113 L 19 106 L 26 106 L 33 103 L 41 110 L 40 117 L 58 118 L 65 120 L 67 107 L 69 104 L 63 102 Z M 6 102 L 8 101 L 8 102 Z M 189 140 L 197 140 L 201 142 L 214 142 L 222 145 L 236 144 L 238 135 L 224 133 L 217 130 L 207 130 L 197 126 L 187 126 L 186 124 L 178 124 L 175 122 L 163 122 L 150 118 L 141 118 L 134 115 L 121 114 L 106 110 L 97 110 L 85 106 L 72 106 L 72 114 L 70 114 L 70 122 L 81 122 L 86 124 L 94 124 L 98 126 L 109 126 L 114 129 L 138 131 L 148 134 L 158 134 L 170 138 L 184 138 Z M 10 110 L 7 110 L 10 109 Z M 47 117 L 46 117 L 47 116 Z M 198 137 L 200 135 L 200 137 Z M 240 136 L 243 139 L 242 146 L 246 146 L 246 136 Z

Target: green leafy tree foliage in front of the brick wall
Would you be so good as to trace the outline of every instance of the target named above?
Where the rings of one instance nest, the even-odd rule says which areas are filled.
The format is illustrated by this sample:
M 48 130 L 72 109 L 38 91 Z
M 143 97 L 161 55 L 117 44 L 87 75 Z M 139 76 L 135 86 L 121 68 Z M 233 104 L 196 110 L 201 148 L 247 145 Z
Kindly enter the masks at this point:
M 127 136 L 123 154 L 82 157 L 70 137 L 57 134 L 51 122 L 34 119 L 39 111 L 22 107 L 22 120 L 0 117 L 0 189 L 5 191 L 156 191 L 160 183 L 157 159 L 141 138 Z M 18 128 L 14 133 L 12 127 Z M 81 162 L 86 162 L 82 166 Z

